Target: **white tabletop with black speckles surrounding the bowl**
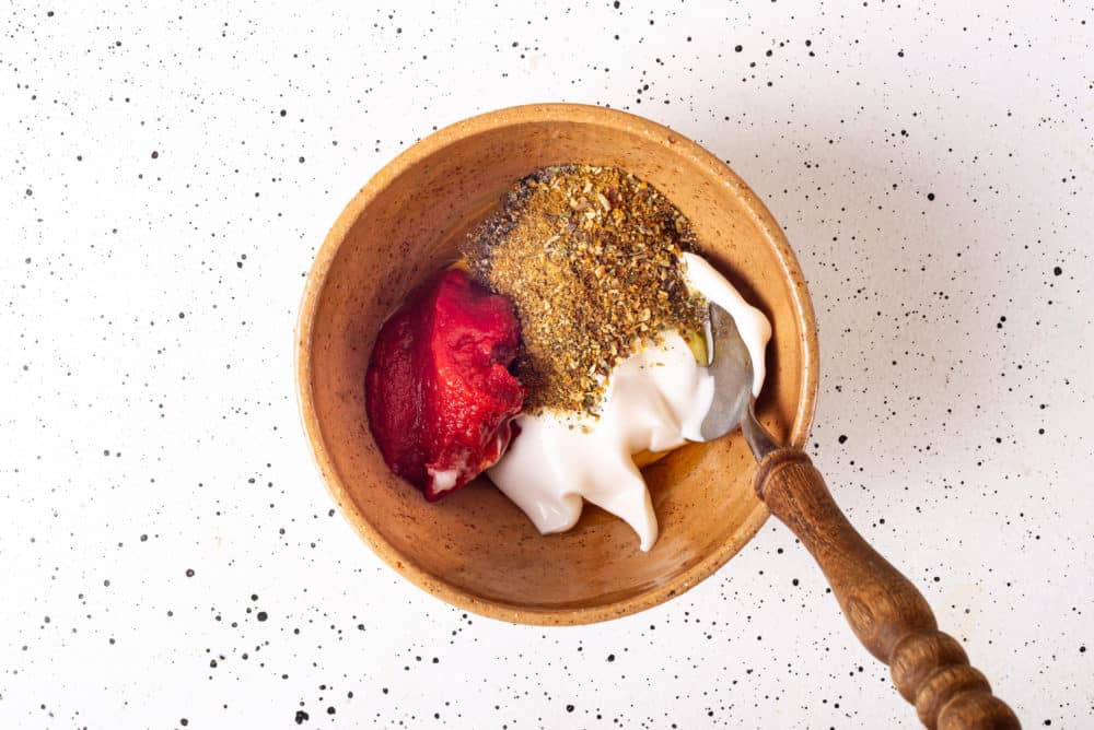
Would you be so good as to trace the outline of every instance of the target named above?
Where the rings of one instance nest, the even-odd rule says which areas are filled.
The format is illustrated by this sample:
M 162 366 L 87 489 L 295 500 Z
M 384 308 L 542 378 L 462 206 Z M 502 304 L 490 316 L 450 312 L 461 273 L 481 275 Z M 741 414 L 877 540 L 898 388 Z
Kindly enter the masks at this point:
M 0 9 L 0 727 L 917 727 L 775 521 L 683 598 L 544 629 L 334 511 L 304 271 L 404 146 L 534 101 L 759 192 L 837 498 L 1026 727 L 1094 727 L 1089 3 L 360 4 Z

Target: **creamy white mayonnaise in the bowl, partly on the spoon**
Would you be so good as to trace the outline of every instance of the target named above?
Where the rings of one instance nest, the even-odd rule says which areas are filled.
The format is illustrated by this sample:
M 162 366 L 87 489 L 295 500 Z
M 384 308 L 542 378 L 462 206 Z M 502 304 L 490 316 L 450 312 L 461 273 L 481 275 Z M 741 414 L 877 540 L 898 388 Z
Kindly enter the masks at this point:
M 752 357 L 753 395 L 758 396 L 770 323 L 706 259 L 694 254 L 683 258 L 688 284 L 733 316 Z M 710 332 L 706 334 L 711 352 Z M 696 362 L 678 332 L 664 332 L 660 344 L 641 349 L 612 370 L 600 417 L 521 414 L 515 419 L 520 435 L 487 473 L 545 534 L 573 527 L 587 499 L 630 525 L 648 551 L 657 539 L 657 518 L 633 455 L 702 440 L 699 426 L 713 397 L 706 364 Z

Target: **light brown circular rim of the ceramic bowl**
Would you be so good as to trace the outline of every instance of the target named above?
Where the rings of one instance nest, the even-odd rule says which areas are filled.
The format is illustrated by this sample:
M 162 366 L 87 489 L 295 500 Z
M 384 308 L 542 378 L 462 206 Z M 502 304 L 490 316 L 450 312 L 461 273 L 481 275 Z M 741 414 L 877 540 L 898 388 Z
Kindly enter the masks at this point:
M 529 625 L 578 625 L 617 619 L 645 609 L 653 608 L 670 598 L 674 598 L 698 585 L 715 570 L 722 567 L 735 555 L 763 527 L 770 513 L 763 502 L 748 514 L 734 538 L 720 544 L 688 570 L 671 580 L 649 588 L 636 596 L 609 601 L 607 603 L 559 609 L 533 609 L 514 605 L 501 601 L 482 599 L 464 591 L 458 586 L 445 581 L 420 568 L 408 556 L 398 552 L 383 535 L 372 527 L 365 516 L 350 498 L 349 490 L 342 482 L 334 460 L 326 448 L 322 428 L 315 412 L 312 392 L 312 358 L 311 343 L 316 305 L 323 294 L 330 263 L 352 228 L 362 211 L 386 189 L 393 180 L 407 168 L 426 160 L 443 148 L 480 132 L 501 127 L 522 123 L 542 122 L 577 122 L 607 126 L 625 129 L 630 133 L 641 134 L 668 146 L 675 154 L 683 155 L 696 166 L 705 167 L 713 177 L 720 179 L 731 189 L 732 193 L 742 200 L 753 222 L 759 226 L 776 250 L 782 267 L 784 281 L 792 283 L 792 299 L 795 318 L 804 333 L 802 338 L 803 378 L 799 393 L 798 409 L 791 427 L 791 445 L 802 447 L 808 436 L 816 407 L 818 373 L 818 345 L 816 320 L 813 303 L 806 287 L 798 258 L 785 235 L 772 217 L 770 211 L 737 177 L 729 165 L 712 153 L 683 134 L 655 121 L 637 115 L 600 106 L 584 104 L 543 103 L 512 106 L 493 111 L 487 111 L 433 132 L 424 139 L 410 145 L 394 160 L 384 165 L 349 201 L 338 215 L 323 245 L 316 252 L 315 260 L 307 272 L 304 292 L 300 305 L 300 314 L 295 331 L 295 376 L 296 397 L 300 416 L 304 431 L 311 444 L 312 455 L 331 496 L 338 504 L 342 515 L 357 530 L 358 534 L 399 575 L 410 580 L 422 590 L 459 609 L 474 612 L 490 619 L 497 619 L 516 624 Z

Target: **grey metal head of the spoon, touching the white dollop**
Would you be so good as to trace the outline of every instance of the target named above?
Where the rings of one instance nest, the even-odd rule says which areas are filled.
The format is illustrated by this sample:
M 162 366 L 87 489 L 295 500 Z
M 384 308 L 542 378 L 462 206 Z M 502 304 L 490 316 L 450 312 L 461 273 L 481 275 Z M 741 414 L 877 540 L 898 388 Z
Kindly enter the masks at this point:
M 714 399 L 707 417 L 699 425 L 699 435 L 708 441 L 724 436 L 741 424 L 752 401 L 753 387 L 748 348 L 730 313 L 713 303 L 710 305 L 710 342 L 708 369 L 714 378 Z

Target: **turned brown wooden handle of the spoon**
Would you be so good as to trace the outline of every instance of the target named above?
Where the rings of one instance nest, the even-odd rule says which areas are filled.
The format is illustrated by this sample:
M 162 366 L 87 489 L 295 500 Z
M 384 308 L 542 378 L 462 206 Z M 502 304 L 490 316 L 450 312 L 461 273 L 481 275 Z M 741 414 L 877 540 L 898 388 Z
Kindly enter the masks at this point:
M 923 725 L 1021 728 L 957 639 L 939 631 L 923 596 L 847 521 L 805 454 L 778 449 L 764 457 L 756 493 L 816 560 L 854 635 L 889 666 Z

